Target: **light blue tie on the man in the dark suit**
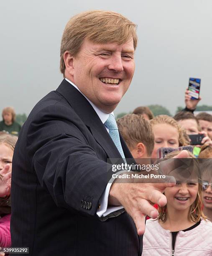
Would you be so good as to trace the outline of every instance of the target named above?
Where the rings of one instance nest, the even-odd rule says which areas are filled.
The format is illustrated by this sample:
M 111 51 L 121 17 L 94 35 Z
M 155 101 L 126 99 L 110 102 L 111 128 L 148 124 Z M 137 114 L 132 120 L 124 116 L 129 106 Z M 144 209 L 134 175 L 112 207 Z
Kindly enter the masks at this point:
M 124 152 L 123 152 L 123 149 L 121 146 L 120 137 L 119 137 L 119 133 L 118 133 L 118 127 L 117 127 L 117 124 L 115 121 L 115 117 L 112 114 L 110 114 L 109 118 L 107 118 L 107 121 L 104 124 L 107 127 L 107 129 L 109 130 L 109 135 L 112 138 L 112 141 L 114 142 L 120 155 L 124 159 L 125 155 L 124 155 Z

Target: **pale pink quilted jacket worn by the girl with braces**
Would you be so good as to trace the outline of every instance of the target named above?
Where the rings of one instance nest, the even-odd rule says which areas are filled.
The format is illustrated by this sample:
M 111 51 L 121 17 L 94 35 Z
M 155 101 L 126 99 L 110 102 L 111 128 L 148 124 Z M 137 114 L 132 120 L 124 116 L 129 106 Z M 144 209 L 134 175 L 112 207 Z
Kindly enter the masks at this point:
M 212 223 L 201 220 L 194 229 L 179 231 L 172 254 L 171 232 L 161 227 L 158 220 L 146 221 L 142 256 L 212 256 Z

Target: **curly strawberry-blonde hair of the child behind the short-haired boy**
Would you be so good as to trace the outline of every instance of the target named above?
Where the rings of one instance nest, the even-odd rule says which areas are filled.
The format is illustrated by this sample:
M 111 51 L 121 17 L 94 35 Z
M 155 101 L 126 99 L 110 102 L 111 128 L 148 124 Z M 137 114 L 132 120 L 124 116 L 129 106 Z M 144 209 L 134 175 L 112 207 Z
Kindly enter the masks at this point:
M 179 133 L 179 146 L 189 145 L 189 136 L 186 134 L 185 129 L 181 127 L 174 118 L 169 115 L 157 115 L 155 118 L 149 121 L 151 125 L 156 124 L 169 124 L 175 127 Z

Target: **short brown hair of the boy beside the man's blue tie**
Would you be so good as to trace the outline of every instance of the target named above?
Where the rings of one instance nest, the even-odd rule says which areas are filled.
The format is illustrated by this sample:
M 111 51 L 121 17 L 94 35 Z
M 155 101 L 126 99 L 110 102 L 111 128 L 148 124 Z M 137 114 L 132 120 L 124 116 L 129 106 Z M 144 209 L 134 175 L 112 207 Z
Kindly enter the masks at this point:
M 146 146 L 148 156 L 151 156 L 154 148 L 154 134 L 150 123 L 142 115 L 125 115 L 117 120 L 117 126 L 130 150 L 142 142 Z

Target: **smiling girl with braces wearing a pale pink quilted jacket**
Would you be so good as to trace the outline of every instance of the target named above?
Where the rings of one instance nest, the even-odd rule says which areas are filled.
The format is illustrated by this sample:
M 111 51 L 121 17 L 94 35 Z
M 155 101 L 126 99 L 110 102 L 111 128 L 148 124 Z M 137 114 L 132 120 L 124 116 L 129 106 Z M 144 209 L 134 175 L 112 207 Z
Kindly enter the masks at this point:
M 177 154 L 172 152 L 166 158 Z M 195 157 L 189 153 L 189 158 Z M 181 176 L 174 187 L 165 189 L 167 205 L 159 207 L 157 219 L 146 222 L 142 256 L 212 255 L 212 223 L 202 212 L 202 184 L 196 182 L 191 175 L 189 179 Z

